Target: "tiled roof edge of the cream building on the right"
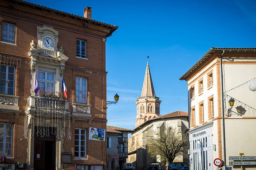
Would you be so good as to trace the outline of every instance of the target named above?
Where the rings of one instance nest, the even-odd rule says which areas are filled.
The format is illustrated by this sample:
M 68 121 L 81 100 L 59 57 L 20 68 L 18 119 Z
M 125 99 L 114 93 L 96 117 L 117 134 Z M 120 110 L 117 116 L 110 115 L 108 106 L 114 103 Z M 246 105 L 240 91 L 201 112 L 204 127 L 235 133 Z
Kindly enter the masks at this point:
M 253 50 L 253 52 L 256 51 L 255 47 L 245 47 L 245 48 L 231 48 L 231 47 L 211 47 L 210 50 L 206 52 L 206 54 L 203 55 L 202 58 L 200 58 L 186 73 L 184 73 L 179 80 L 185 80 L 197 67 L 199 67 L 207 58 L 210 57 L 212 51 L 219 51 L 219 50 Z

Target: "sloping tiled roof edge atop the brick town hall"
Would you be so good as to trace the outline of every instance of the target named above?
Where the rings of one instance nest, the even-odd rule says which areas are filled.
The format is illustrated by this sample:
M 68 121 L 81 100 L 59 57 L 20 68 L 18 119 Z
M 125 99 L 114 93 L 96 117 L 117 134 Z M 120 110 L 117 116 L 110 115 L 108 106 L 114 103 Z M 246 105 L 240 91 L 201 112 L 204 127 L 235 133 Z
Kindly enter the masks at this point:
M 111 24 L 99 22 L 99 21 L 97 21 L 97 20 L 93 20 L 93 19 L 89 19 L 89 18 L 84 18 L 84 17 L 79 16 L 79 15 L 75 15 L 75 14 L 68 13 L 68 12 L 64 12 L 64 11 L 59 11 L 59 10 L 57 10 L 57 9 L 48 8 L 48 7 L 45 7 L 45 6 L 42 6 L 42 5 L 30 3 L 30 2 L 27 2 L 27 1 L 23 1 L 23 0 L 12 0 L 12 1 L 16 1 L 16 2 L 18 2 L 18 3 L 22 3 L 22 4 L 26 4 L 26 5 L 32 5 L 32 6 L 34 6 L 34 7 L 40 7 L 40 8 L 48 9 L 48 10 L 50 10 L 50 11 L 54 11 L 54 12 L 58 12 L 58 13 L 63 13 L 63 14 L 65 14 L 65 15 L 73 16 L 73 17 L 76 17 L 76 18 L 79 18 L 79 19 L 84 19 L 84 20 L 88 20 L 88 21 L 91 21 L 91 22 L 103 24 L 103 25 L 106 25 L 106 26 L 118 28 L 118 26 L 114 26 L 114 25 L 111 25 Z

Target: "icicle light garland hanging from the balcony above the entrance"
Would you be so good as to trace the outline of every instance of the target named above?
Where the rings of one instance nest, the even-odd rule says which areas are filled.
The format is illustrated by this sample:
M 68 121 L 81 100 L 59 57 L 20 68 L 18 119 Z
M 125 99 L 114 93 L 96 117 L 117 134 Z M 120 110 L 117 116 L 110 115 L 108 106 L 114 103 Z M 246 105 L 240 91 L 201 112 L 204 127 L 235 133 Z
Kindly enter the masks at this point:
M 56 139 L 65 137 L 65 122 L 67 121 L 67 138 L 71 139 L 70 108 L 65 107 L 69 102 L 56 97 L 30 97 L 27 101 L 24 121 L 24 136 L 28 136 L 28 125 L 31 123 L 31 137 L 56 136 Z M 31 104 L 30 108 L 29 105 Z M 31 118 L 29 120 L 29 114 Z M 35 132 L 36 128 L 36 132 Z

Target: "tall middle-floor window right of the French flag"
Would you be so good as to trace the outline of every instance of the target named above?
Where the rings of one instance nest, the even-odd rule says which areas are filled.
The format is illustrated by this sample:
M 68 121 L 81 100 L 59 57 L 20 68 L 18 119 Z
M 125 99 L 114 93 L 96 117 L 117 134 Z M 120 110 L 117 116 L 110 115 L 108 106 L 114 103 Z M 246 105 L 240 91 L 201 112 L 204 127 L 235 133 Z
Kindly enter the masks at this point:
M 76 77 L 76 103 L 87 104 L 87 78 Z

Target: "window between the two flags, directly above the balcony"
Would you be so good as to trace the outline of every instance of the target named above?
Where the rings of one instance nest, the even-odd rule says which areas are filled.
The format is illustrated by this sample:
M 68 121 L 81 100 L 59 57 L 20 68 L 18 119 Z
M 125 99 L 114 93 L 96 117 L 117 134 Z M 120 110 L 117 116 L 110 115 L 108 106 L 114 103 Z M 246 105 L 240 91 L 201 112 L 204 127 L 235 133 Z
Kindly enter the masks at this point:
M 55 91 L 55 70 L 39 68 L 38 71 L 38 84 L 40 90 L 46 92 Z

